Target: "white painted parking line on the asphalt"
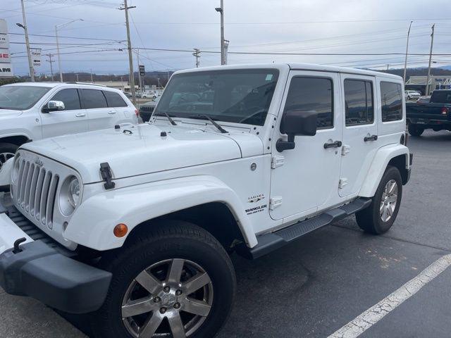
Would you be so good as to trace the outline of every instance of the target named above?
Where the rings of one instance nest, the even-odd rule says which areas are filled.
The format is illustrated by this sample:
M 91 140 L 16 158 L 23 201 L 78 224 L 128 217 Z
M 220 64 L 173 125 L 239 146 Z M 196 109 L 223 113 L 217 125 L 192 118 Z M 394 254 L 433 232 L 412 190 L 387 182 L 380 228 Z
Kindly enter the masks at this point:
M 393 294 L 385 297 L 375 306 L 371 306 L 364 313 L 359 315 L 341 329 L 330 334 L 328 338 L 355 338 L 378 323 L 385 315 L 395 310 L 397 306 L 412 297 L 416 292 L 431 282 L 435 277 L 443 273 L 451 265 L 451 254 L 439 258 L 429 265 L 419 275 L 402 285 Z

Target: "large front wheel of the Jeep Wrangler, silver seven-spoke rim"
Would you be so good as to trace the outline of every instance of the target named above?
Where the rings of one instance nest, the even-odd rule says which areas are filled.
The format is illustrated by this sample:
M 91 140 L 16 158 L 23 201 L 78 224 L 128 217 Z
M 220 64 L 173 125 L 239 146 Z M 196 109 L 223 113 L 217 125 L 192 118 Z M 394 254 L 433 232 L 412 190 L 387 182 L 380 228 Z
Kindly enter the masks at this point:
M 113 273 L 94 337 L 214 337 L 233 305 L 236 280 L 223 246 L 196 225 L 165 221 L 101 259 Z

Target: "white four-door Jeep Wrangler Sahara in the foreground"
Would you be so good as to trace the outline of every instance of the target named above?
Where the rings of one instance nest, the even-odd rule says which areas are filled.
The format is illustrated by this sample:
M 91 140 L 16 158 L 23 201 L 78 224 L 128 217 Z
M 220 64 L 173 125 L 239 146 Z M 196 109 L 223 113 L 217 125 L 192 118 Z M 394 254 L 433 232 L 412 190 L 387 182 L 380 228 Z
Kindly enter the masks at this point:
M 0 285 L 89 313 L 92 337 L 213 337 L 228 253 L 353 213 L 390 229 L 412 165 L 403 92 L 321 65 L 184 70 L 149 123 L 24 144 L 0 175 Z

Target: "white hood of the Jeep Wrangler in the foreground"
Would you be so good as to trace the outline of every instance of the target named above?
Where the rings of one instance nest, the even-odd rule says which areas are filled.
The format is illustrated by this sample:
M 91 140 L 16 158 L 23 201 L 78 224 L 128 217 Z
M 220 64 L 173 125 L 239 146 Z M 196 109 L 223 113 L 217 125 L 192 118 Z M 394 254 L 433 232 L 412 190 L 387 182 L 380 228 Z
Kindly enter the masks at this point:
M 102 180 L 99 169 L 104 162 L 109 163 L 113 179 L 119 179 L 233 160 L 243 154 L 263 154 L 261 139 L 254 134 L 242 131 L 221 134 L 211 128 L 185 124 L 128 125 L 121 130 L 109 128 L 42 139 L 22 148 L 74 168 L 84 184 Z M 166 136 L 162 136 L 164 133 Z

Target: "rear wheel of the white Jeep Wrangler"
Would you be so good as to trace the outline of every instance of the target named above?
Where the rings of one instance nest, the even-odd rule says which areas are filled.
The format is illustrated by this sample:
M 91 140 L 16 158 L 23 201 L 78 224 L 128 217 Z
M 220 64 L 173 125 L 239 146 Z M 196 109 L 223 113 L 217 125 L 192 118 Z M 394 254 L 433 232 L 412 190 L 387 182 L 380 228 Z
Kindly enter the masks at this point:
M 387 232 L 395 222 L 397 212 L 400 210 L 401 198 L 400 171 L 389 166 L 383 174 L 370 206 L 356 213 L 357 224 L 362 230 L 371 234 Z

